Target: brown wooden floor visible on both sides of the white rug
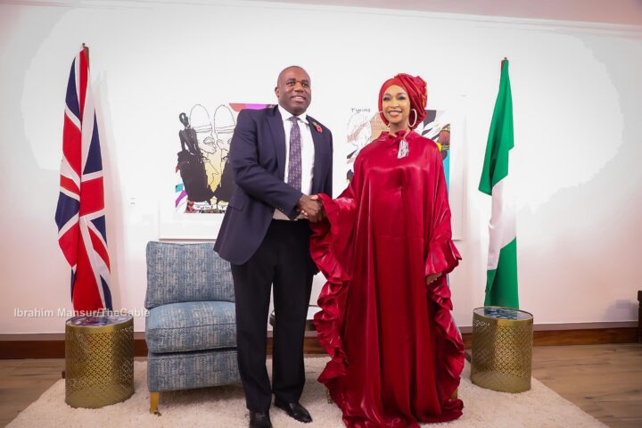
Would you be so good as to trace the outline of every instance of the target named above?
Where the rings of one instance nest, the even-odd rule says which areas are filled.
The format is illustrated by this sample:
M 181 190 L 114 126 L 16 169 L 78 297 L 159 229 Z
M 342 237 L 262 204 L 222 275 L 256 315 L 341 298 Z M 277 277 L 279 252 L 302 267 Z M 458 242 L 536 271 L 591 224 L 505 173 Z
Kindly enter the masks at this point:
M 63 368 L 63 359 L 0 360 L 0 426 L 59 380 Z M 642 427 L 642 344 L 536 347 L 533 376 L 613 428 Z

